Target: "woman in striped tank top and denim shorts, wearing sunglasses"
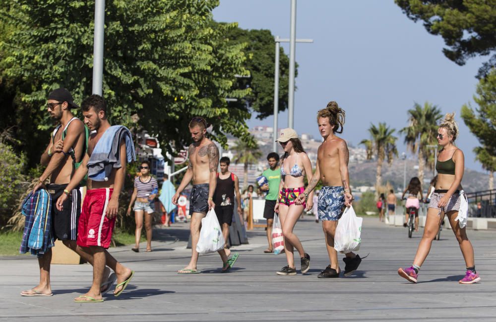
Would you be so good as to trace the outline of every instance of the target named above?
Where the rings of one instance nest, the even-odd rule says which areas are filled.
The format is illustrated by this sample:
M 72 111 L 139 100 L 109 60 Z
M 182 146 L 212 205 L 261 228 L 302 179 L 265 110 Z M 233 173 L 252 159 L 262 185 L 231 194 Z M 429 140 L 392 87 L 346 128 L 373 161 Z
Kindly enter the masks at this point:
M 152 213 L 153 209 L 150 203 L 155 199 L 158 193 L 157 180 L 150 175 L 150 164 L 148 161 L 141 162 L 139 167 L 141 175 L 134 178 L 134 191 L 132 192 L 131 202 L 127 208 L 127 215 L 131 213 L 131 206 L 134 203 L 134 220 L 136 220 L 136 245 L 131 248 L 133 252 L 139 252 L 139 239 L 141 238 L 141 229 L 143 228 L 143 215 L 145 217 L 146 230 L 146 251 L 152 251 Z

